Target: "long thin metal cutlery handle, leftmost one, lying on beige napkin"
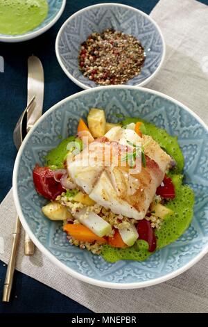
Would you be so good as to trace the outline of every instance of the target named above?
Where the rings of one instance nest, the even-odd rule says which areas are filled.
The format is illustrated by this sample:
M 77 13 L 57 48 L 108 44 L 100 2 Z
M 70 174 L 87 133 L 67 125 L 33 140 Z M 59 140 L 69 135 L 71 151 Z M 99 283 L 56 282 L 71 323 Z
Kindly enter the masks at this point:
M 13 235 L 12 252 L 10 255 L 10 261 L 8 262 L 8 266 L 6 270 L 6 278 L 3 285 L 3 298 L 2 298 L 3 302 L 10 301 L 10 294 L 12 290 L 12 281 L 15 271 L 15 262 L 17 258 L 17 248 L 20 238 L 20 232 L 21 232 L 21 223 L 19 221 L 19 217 L 17 216 L 15 232 L 12 234 Z

